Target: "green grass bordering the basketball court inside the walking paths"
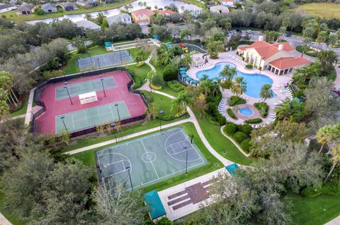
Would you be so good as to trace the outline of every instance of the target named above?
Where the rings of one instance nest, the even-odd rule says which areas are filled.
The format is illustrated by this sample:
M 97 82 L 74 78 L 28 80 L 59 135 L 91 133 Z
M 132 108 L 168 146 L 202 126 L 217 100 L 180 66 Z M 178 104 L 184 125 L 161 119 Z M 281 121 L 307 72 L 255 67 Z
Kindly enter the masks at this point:
M 184 130 L 186 130 L 186 133 L 191 133 L 191 134 L 195 135 L 196 137 L 198 137 L 198 133 L 197 133 L 196 128 L 193 125 L 193 123 L 190 123 L 190 122 L 183 123 L 180 126 L 182 126 L 184 128 Z M 140 137 L 138 137 L 138 138 L 140 138 Z M 179 183 L 183 183 L 184 181 L 191 180 L 192 178 L 196 178 L 198 176 L 202 176 L 203 174 L 208 174 L 212 171 L 215 171 L 216 169 L 222 168 L 222 166 L 223 166 L 222 163 L 220 161 L 218 161 L 215 157 L 212 156 L 212 154 L 208 151 L 208 149 L 205 147 L 205 145 L 203 144 L 202 140 L 200 140 L 200 138 L 193 138 L 193 142 L 200 149 L 200 152 L 202 152 L 205 159 L 207 159 L 208 164 L 201 166 L 197 169 L 190 170 L 190 171 L 188 171 L 188 174 L 181 174 L 181 175 L 174 176 L 172 178 L 166 179 L 164 181 L 154 183 L 150 186 L 143 188 L 143 190 L 145 192 L 148 192 L 148 191 L 154 190 L 154 189 L 156 189 L 158 191 L 164 190 L 166 188 L 176 186 Z M 92 166 L 94 168 L 94 172 L 95 172 L 95 169 L 96 169 L 96 162 L 95 162 L 95 159 L 94 159 L 94 151 L 95 150 L 80 152 L 78 154 L 72 155 L 72 157 L 75 157 L 75 158 L 81 160 L 86 165 Z M 215 163 L 217 163 L 218 166 L 215 166 Z

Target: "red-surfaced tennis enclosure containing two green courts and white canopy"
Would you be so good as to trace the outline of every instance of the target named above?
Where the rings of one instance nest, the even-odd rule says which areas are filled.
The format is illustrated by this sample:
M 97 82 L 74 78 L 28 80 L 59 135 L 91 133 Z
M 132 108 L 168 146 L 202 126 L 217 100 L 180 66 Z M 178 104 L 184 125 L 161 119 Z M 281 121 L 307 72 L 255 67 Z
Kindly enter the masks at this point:
M 102 78 L 91 75 L 68 80 L 67 90 L 64 82 L 50 83 L 40 90 L 39 99 L 44 102 L 46 111 L 35 119 L 35 132 L 58 133 L 66 126 L 70 133 L 74 133 L 145 114 L 146 105 L 142 97 L 128 90 L 130 78 L 125 71 L 101 75 Z M 96 92 L 98 100 L 81 104 L 79 95 L 89 92 Z

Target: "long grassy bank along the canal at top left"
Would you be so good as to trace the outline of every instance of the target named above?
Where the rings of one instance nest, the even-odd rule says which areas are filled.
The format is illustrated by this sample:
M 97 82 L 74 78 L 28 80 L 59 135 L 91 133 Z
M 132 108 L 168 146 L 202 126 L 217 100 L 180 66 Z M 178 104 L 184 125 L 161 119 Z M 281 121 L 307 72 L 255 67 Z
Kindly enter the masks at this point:
M 39 19 L 45 19 L 45 18 L 56 18 L 64 15 L 74 15 L 74 14 L 81 14 L 81 13 L 91 13 L 91 12 L 96 12 L 96 11 L 104 11 L 104 10 L 109 10 L 113 8 L 119 8 L 121 6 L 125 6 L 127 4 L 132 3 L 135 0 L 124 0 L 119 3 L 115 4 L 105 4 L 105 5 L 99 5 L 91 8 L 84 8 L 82 6 L 78 6 L 77 10 L 74 11 L 62 11 L 61 13 L 45 13 L 44 15 L 30 15 L 30 16 L 22 16 L 22 15 L 17 15 L 16 11 L 10 11 L 7 13 L 1 13 L 1 15 L 6 16 L 8 20 L 13 20 L 14 22 L 23 22 L 26 20 L 39 20 Z

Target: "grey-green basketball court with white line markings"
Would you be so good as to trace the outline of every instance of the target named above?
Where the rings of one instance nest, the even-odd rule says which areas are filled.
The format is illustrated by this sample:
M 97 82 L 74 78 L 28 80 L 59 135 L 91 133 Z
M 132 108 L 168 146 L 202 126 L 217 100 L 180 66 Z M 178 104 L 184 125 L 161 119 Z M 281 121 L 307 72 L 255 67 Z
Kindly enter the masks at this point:
M 186 160 L 188 156 L 188 160 Z M 98 179 L 112 190 L 119 185 L 148 186 L 203 166 L 206 160 L 183 128 L 172 128 L 95 152 Z M 130 168 L 128 168 L 130 167 Z

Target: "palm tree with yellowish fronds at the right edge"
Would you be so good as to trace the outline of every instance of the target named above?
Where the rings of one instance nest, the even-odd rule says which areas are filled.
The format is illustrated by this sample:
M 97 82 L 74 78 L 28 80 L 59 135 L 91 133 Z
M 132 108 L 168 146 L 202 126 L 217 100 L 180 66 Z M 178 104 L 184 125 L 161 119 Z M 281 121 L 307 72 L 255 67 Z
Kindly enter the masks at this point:
M 317 130 L 317 142 L 321 144 L 318 154 L 321 154 L 324 145 L 334 142 L 340 137 L 340 125 L 327 125 Z

